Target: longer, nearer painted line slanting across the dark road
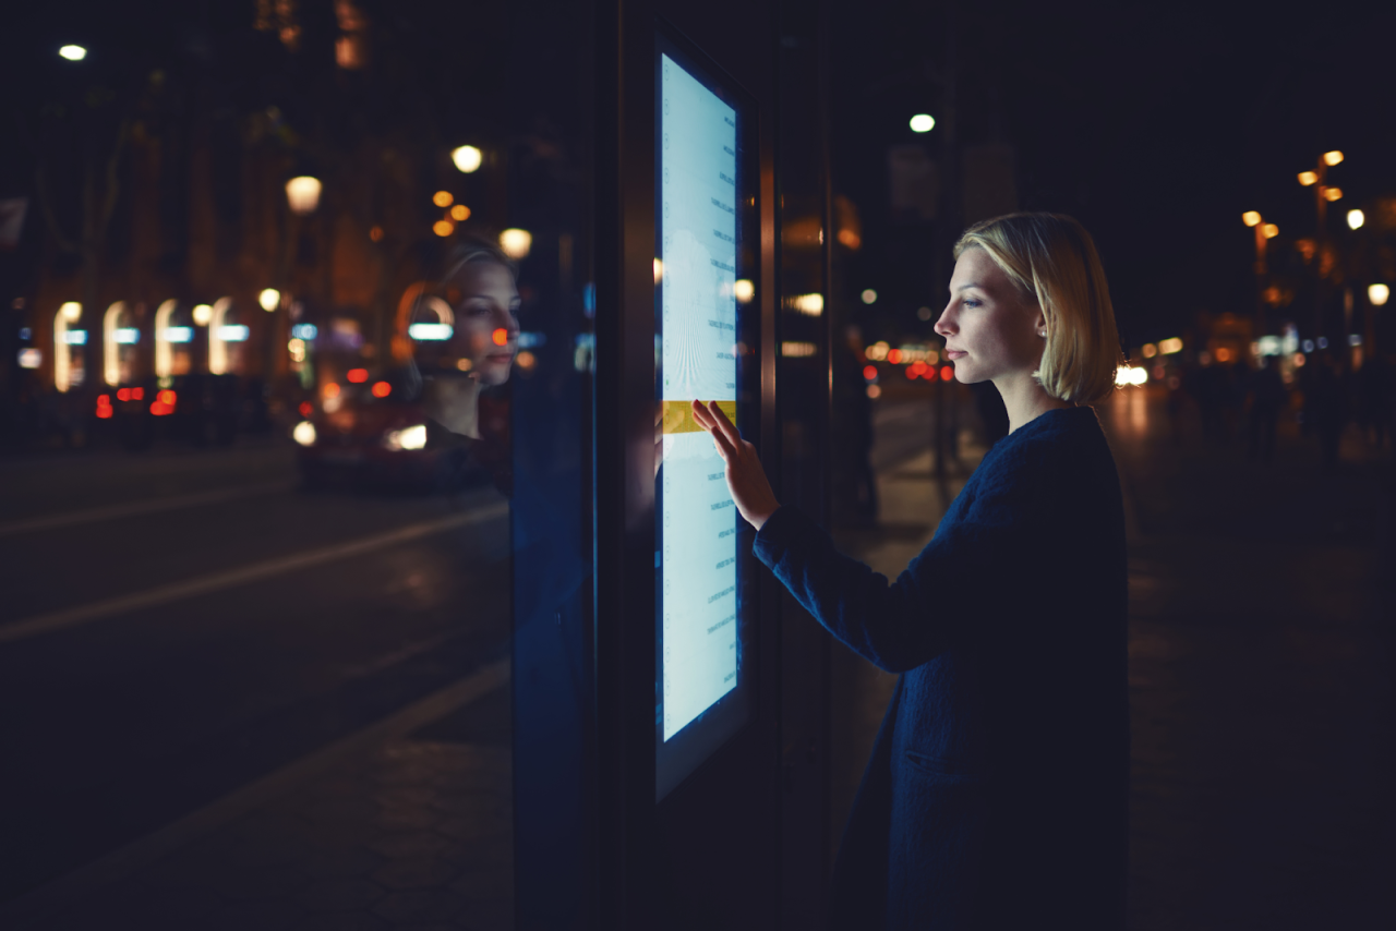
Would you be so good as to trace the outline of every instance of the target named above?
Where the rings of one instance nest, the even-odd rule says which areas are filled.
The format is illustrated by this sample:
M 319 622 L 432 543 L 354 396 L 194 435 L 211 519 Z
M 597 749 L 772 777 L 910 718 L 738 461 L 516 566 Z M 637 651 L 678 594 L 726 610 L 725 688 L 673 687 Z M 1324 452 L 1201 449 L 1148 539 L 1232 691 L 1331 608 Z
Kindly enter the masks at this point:
M 40 634 L 52 634 L 53 631 L 61 631 L 81 624 L 91 624 L 92 621 L 98 621 L 103 617 L 112 617 L 113 614 L 126 614 L 127 611 L 134 611 L 137 609 L 169 604 L 170 602 L 180 602 L 197 595 L 208 595 L 209 592 L 236 588 L 239 585 L 247 585 L 248 582 L 260 582 L 261 579 L 285 575 L 286 572 L 295 572 L 311 565 L 346 560 L 353 556 L 373 553 L 374 550 L 396 546 L 409 540 L 417 540 L 424 536 L 441 533 L 443 530 L 451 530 L 468 523 L 493 521 L 496 518 L 507 516 L 508 512 L 508 501 L 498 501 L 473 511 L 452 514 L 451 516 L 438 518 L 436 521 L 412 523 L 405 528 L 398 528 L 396 530 L 389 530 L 388 533 L 380 533 L 362 540 L 353 540 L 350 543 L 338 543 L 320 550 L 310 550 L 309 553 L 283 556 L 275 560 L 267 560 L 265 563 L 254 563 L 253 565 L 244 565 L 226 572 L 214 572 L 212 575 L 188 579 L 187 582 L 172 582 L 170 585 L 159 585 L 144 592 L 119 595 L 117 597 L 91 602 L 88 604 L 78 604 L 77 607 L 63 609 L 61 611 L 39 614 L 36 617 L 29 617 L 22 621 L 0 627 L 0 645 L 10 643 L 13 641 L 22 641 L 29 636 L 39 636 Z

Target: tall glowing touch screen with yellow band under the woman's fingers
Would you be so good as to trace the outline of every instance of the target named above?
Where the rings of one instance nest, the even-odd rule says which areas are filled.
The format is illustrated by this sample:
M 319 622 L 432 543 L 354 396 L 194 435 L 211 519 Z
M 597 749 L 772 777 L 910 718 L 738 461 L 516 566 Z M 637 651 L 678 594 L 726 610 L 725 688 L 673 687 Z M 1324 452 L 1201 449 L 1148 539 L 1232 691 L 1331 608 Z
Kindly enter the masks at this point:
M 755 105 L 663 32 L 656 40 L 656 800 L 751 720 L 752 529 L 692 417 L 716 401 L 758 424 Z M 748 314 L 745 307 L 751 306 Z

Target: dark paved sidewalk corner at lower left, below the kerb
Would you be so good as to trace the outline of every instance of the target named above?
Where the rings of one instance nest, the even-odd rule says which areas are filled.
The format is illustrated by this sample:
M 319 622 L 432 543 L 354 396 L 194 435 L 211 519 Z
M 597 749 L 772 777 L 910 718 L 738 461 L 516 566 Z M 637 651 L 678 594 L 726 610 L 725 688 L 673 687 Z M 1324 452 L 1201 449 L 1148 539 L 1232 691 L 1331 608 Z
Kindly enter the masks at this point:
M 155 863 L 78 884 L 42 918 L 4 927 L 504 931 L 510 773 L 505 677 L 409 734 L 285 780 L 279 796 L 191 832 Z

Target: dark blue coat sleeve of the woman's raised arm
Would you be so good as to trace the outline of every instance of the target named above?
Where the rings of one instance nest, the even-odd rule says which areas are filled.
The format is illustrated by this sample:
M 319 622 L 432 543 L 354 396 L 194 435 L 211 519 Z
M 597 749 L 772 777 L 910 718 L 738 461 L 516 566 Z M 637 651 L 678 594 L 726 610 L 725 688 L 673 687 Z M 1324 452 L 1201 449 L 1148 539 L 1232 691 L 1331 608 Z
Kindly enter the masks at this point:
M 828 533 L 792 507 L 762 525 L 755 554 L 839 641 L 900 673 L 969 636 L 991 635 L 988 628 L 1022 613 L 1011 599 L 1030 585 L 1032 512 L 1032 496 L 984 483 L 895 582 L 839 553 Z

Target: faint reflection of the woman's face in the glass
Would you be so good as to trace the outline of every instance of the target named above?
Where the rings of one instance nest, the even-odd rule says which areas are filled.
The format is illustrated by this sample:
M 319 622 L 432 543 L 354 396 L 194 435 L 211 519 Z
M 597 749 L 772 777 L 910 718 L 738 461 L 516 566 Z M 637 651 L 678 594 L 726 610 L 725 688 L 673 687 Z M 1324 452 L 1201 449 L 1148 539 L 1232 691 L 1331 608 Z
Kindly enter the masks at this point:
M 518 350 L 519 290 L 498 262 L 466 262 L 451 282 L 461 289 L 455 307 L 452 348 L 482 385 L 503 385 Z M 452 295 L 455 297 L 455 295 Z M 463 367 L 463 366 L 462 366 Z

